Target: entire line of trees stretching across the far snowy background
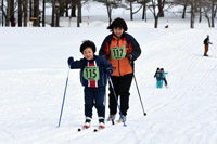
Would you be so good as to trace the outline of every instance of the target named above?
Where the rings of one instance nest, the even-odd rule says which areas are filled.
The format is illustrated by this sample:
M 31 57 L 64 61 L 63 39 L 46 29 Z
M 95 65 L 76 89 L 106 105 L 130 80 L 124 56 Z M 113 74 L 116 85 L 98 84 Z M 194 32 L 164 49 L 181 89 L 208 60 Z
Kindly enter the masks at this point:
M 13 27 L 17 23 L 18 27 L 27 27 L 28 21 L 33 21 L 33 26 L 40 26 L 41 23 L 44 27 L 46 22 L 48 23 L 46 9 L 47 5 L 50 5 L 52 6 L 52 16 L 48 24 L 52 27 L 60 26 L 62 16 L 77 17 L 77 27 L 79 27 L 82 22 L 82 5 L 93 1 L 104 4 L 108 24 L 112 23 L 112 11 L 124 8 L 130 11 L 131 21 L 133 21 L 133 14 L 142 11 L 141 19 L 146 22 L 146 11 L 151 11 L 154 17 L 154 27 L 157 28 L 158 18 L 165 16 L 165 11 L 179 5 L 183 8 L 181 18 L 186 18 L 186 13 L 190 13 L 191 28 L 194 28 L 195 15 L 199 15 L 199 23 L 202 22 L 202 17 L 205 17 L 208 26 L 215 27 L 217 0 L 1 0 L 2 26 Z M 133 6 L 135 4 L 137 6 Z

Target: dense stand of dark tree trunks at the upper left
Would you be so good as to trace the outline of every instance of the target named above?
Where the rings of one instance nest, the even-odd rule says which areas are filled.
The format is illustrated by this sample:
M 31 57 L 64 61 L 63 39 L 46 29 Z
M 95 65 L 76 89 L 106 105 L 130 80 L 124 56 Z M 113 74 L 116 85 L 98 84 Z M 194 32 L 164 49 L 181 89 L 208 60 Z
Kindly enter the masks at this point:
M 84 1 L 82 1 L 84 2 Z M 81 0 L 1 0 L 2 25 L 14 27 L 27 27 L 28 21 L 33 21 L 33 26 L 46 26 L 46 4 L 52 6 L 51 22 L 52 27 L 60 26 L 60 17 L 77 17 L 81 23 Z M 71 11 L 71 13 L 69 13 Z M 15 18 L 17 15 L 17 19 Z

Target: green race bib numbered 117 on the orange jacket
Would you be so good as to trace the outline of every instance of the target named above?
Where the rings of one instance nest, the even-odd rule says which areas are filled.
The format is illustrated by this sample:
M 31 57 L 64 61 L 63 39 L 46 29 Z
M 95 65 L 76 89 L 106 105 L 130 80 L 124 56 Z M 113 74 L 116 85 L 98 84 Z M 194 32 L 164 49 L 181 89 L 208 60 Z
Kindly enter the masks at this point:
M 120 60 L 126 56 L 125 47 L 113 47 L 112 48 L 112 58 L 113 60 Z

